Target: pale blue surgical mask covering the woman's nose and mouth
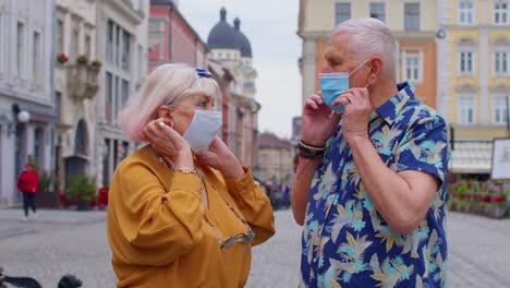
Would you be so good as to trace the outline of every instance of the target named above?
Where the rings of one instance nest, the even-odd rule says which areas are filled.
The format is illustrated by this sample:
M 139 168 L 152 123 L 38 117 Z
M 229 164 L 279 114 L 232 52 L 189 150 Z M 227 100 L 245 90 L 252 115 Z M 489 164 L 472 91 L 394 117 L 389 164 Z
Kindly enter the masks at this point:
M 222 125 L 222 116 L 218 111 L 195 110 L 192 122 L 184 132 L 184 140 L 194 152 L 209 148 L 210 143 Z

